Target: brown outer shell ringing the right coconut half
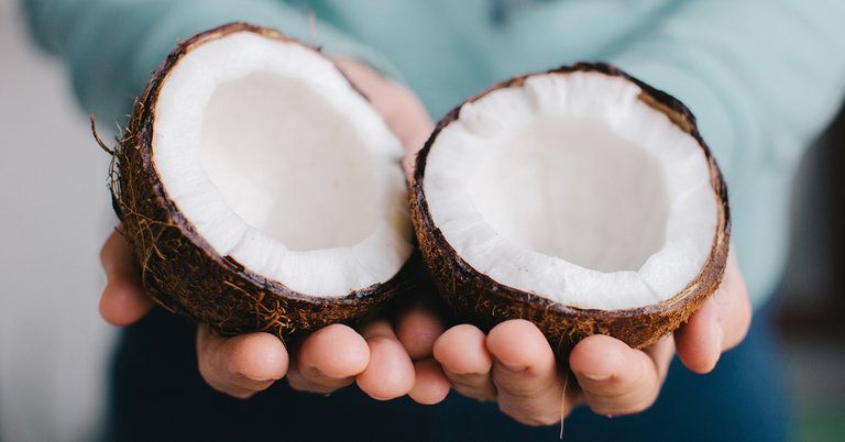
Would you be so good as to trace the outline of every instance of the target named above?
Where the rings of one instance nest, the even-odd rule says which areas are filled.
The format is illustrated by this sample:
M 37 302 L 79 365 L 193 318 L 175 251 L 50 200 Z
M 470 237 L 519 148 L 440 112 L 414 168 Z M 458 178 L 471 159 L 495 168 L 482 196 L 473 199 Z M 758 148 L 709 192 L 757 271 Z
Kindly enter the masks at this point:
M 582 309 L 500 284 L 463 261 L 432 221 L 424 191 L 426 161 L 431 146 L 440 131 L 458 120 L 461 106 L 438 122 L 435 132 L 419 152 L 410 194 L 411 216 L 424 259 L 438 291 L 458 318 L 483 330 L 509 319 L 531 321 L 542 331 L 559 356 L 567 354 L 580 340 L 592 334 L 611 335 L 632 347 L 641 349 L 678 329 L 718 287 L 727 261 L 731 236 L 727 188 L 690 110 L 668 93 L 606 64 L 579 63 L 546 74 L 531 75 L 567 75 L 574 71 L 622 77 L 636 84 L 643 90 L 639 99 L 665 113 L 676 125 L 693 136 L 701 147 L 702 155 L 707 159 L 714 198 L 717 201 L 717 228 L 705 264 L 683 290 L 662 302 L 646 307 L 619 310 Z M 479 100 L 493 90 L 519 87 L 531 75 L 501 82 L 468 101 Z

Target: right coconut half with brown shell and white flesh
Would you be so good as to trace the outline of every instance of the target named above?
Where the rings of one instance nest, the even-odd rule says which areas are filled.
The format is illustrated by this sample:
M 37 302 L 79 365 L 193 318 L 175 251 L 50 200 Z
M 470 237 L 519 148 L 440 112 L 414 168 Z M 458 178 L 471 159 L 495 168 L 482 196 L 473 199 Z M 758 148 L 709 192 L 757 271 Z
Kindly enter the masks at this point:
M 559 353 L 677 329 L 718 286 L 731 230 L 690 111 L 602 64 L 514 78 L 452 110 L 417 158 L 411 211 L 463 319 L 530 320 Z

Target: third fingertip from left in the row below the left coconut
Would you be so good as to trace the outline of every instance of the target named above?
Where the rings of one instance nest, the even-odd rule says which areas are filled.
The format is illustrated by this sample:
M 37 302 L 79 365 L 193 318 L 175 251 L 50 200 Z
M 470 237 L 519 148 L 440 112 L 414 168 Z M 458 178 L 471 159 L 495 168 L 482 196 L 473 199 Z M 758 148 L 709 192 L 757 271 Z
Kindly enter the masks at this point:
M 370 346 L 370 364 L 358 375 L 358 386 L 378 400 L 407 395 L 414 388 L 414 364 L 387 321 L 366 325 L 361 333 Z

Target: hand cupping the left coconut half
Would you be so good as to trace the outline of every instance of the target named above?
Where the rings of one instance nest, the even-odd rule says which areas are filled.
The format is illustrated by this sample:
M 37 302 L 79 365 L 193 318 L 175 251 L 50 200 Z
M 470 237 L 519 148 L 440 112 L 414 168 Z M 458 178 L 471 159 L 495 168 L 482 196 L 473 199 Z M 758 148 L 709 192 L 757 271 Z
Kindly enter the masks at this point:
M 407 89 L 353 60 L 339 60 L 347 76 L 371 100 L 411 156 L 431 131 L 431 121 Z M 153 308 L 141 287 L 138 268 L 123 237 L 112 233 L 103 245 L 102 266 L 108 285 L 100 313 L 128 325 Z M 216 335 L 207 327 L 197 334 L 199 372 L 222 393 L 246 398 L 287 376 L 296 389 L 331 393 L 353 382 L 376 399 L 409 394 L 422 404 L 436 404 L 449 393 L 449 383 L 432 358 L 440 320 L 425 303 L 411 303 L 395 320 L 376 319 L 360 332 L 343 324 L 326 327 L 295 349 L 267 333 L 233 338 Z

